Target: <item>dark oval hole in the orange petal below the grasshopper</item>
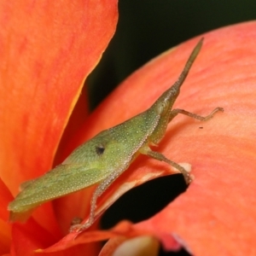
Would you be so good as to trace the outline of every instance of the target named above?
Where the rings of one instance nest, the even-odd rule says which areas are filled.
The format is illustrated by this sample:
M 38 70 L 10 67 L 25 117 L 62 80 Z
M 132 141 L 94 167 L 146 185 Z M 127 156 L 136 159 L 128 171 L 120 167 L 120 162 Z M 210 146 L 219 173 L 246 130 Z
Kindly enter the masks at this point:
M 133 223 L 160 212 L 187 188 L 181 174 L 159 177 L 129 190 L 102 216 L 102 229 L 109 229 L 122 219 Z

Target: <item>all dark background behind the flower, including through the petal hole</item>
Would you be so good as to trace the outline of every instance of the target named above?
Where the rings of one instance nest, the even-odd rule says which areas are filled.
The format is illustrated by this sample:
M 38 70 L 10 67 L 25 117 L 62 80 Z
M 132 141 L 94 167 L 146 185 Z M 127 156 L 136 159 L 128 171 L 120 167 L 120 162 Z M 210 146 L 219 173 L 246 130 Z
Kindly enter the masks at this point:
M 255 0 L 119 0 L 117 31 L 101 62 L 86 80 L 90 109 L 96 108 L 138 67 L 166 49 L 203 32 L 255 19 Z M 104 214 L 102 228 L 107 229 L 124 218 L 133 222 L 149 218 L 185 189 L 179 174 L 131 189 Z M 160 255 L 189 253 L 182 250 Z

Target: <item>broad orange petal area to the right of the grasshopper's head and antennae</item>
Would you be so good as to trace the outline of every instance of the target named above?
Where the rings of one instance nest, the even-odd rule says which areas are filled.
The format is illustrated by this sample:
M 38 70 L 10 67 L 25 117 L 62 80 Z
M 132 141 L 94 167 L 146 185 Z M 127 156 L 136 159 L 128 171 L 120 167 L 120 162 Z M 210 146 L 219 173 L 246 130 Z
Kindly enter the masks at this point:
M 195 71 L 195 63 L 176 106 L 201 114 L 218 106 L 225 111 L 203 124 L 175 119 L 158 149 L 188 161 L 195 181 L 138 227 L 172 233 L 193 255 L 256 253 L 255 28 L 249 22 L 206 35 L 201 68 Z M 163 241 L 167 249 L 170 241 Z

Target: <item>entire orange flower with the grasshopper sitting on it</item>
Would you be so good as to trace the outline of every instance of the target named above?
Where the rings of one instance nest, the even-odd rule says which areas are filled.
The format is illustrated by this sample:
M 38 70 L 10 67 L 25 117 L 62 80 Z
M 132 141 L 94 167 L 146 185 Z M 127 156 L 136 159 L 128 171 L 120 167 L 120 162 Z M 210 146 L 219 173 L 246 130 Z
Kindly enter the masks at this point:
M 95 224 L 73 239 L 73 233 L 67 235 L 70 220 L 86 220 L 93 188 L 39 207 L 26 224 L 7 223 L 7 205 L 21 182 L 51 168 L 84 77 L 113 35 L 117 3 L 6 1 L 0 10 L 0 253 L 33 255 L 46 248 L 38 252 L 94 255 L 98 245 L 93 241 L 113 238 L 101 253 L 111 255 L 134 236 L 154 236 L 166 249 L 183 246 L 194 255 L 256 253 L 256 22 L 207 33 L 175 103 L 175 108 L 201 115 L 216 107 L 225 110 L 203 124 L 178 116 L 160 143 L 158 150 L 167 157 L 192 165 L 195 181 L 189 189 L 142 223 L 122 222 L 108 231 L 95 230 Z M 61 155 L 148 108 L 177 79 L 197 40 L 131 75 L 69 142 L 62 143 Z M 108 207 L 125 189 L 169 172 L 163 163 L 137 159 L 102 195 L 97 210 Z M 155 244 L 154 239 L 149 242 Z

